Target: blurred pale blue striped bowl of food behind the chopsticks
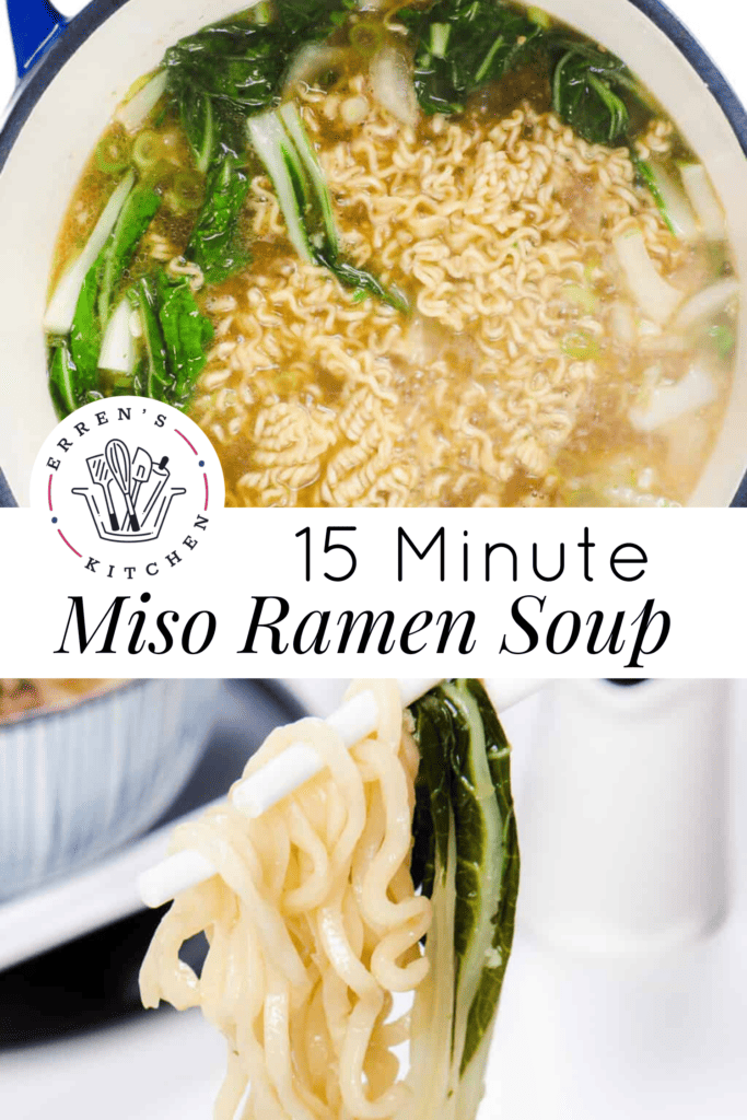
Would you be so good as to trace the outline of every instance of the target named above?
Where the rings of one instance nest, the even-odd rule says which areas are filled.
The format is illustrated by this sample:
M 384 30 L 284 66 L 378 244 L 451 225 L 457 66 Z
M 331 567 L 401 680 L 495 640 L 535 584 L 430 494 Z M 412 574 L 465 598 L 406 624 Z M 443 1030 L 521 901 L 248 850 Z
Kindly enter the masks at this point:
M 189 778 L 218 681 L 0 681 L 0 899 L 149 828 Z

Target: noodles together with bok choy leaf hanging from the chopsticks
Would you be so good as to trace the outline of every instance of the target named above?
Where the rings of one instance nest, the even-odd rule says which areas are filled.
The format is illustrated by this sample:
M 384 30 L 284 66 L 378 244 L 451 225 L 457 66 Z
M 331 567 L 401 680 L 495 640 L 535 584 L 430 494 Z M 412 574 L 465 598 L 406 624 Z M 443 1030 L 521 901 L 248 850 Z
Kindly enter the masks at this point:
M 404 716 L 396 682 L 368 689 L 379 722 L 351 752 L 302 720 L 246 769 L 301 740 L 318 777 L 259 820 L 228 800 L 175 838 L 216 874 L 177 898 L 140 984 L 226 1036 L 217 1120 L 473 1120 L 482 1099 L 517 887 L 507 745 L 477 682 Z M 179 950 L 202 931 L 198 978 Z

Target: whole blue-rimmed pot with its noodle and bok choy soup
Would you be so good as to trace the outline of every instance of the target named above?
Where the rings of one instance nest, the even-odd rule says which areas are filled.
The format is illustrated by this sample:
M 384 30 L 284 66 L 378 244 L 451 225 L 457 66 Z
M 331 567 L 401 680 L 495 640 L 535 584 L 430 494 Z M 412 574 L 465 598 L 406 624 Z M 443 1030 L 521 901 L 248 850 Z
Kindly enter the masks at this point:
M 0 138 L 21 504 L 114 393 L 187 410 L 236 506 L 743 504 L 747 118 L 662 4 L 38 4 Z

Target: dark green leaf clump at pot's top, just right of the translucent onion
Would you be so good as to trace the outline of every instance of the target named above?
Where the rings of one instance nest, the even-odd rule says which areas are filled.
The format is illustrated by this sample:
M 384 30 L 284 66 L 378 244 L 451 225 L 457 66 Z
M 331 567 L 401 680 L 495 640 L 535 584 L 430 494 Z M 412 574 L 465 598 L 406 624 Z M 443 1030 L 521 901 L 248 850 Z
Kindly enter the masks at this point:
M 461 112 L 470 93 L 525 63 L 543 34 L 495 0 L 438 0 L 399 18 L 414 32 L 415 92 L 426 113 Z

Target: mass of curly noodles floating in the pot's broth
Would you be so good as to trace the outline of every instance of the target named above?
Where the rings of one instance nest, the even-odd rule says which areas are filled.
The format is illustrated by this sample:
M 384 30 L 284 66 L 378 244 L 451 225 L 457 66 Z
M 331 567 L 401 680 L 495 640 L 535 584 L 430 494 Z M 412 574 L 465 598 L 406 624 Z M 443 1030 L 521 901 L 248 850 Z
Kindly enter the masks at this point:
M 622 401 L 629 392 L 629 368 L 610 368 L 597 345 L 611 300 L 583 309 L 568 292 L 614 296 L 610 246 L 631 225 L 665 272 L 682 246 L 636 186 L 629 152 L 586 143 L 553 113 L 524 103 L 497 123 L 474 112 L 415 131 L 363 97 L 361 75 L 346 92 L 365 104 L 363 122 L 345 123 L 338 93 L 310 90 L 305 123 L 346 251 L 405 291 L 414 314 L 358 302 L 295 260 L 270 181 L 254 179 L 264 252 L 226 286 L 193 409 L 227 464 L 228 501 L 498 505 L 522 478 L 541 492 L 594 408 L 603 365 Z M 664 122 L 642 141 L 666 143 Z

